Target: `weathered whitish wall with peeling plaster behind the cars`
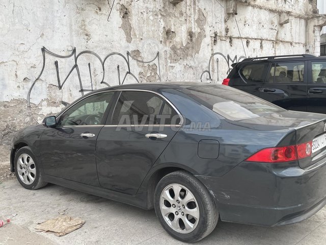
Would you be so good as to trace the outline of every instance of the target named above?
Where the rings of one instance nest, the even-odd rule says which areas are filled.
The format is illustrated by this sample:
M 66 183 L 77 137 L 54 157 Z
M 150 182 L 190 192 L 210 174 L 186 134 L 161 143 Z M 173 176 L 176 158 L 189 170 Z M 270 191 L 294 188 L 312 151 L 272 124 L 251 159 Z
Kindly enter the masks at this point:
M 125 75 L 124 83 L 201 77 L 221 83 L 245 52 L 249 57 L 313 53 L 307 22 L 316 14 L 315 1 L 113 2 L 1 1 L 0 155 L 8 155 L 13 132 Z M 85 50 L 94 53 L 80 53 Z M 121 55 L 104 62 L 112 52 Z M 218 54 L 208 67 L 213 53 Z

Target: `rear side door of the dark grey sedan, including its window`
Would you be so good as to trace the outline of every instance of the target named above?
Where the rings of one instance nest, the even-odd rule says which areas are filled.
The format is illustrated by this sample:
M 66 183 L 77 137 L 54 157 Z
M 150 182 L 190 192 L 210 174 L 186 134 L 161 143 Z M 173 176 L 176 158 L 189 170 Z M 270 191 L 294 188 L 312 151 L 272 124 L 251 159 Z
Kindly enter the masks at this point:
M 181 116 L 157 93 L 120 91 L 96 145 L 102 188 L 134 195 L 180 128 Z

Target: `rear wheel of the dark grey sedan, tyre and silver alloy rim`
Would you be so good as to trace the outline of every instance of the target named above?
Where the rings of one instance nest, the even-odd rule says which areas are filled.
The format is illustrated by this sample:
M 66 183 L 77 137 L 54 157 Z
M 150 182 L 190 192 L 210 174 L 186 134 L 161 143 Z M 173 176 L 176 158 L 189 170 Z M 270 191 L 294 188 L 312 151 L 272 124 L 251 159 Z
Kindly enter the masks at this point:
M 219 219 L 206 186 L 183 170 L 170 173 L 158 182 L 154 208 L 162 227 L 184 242 L 203 239 L 214 230 Z

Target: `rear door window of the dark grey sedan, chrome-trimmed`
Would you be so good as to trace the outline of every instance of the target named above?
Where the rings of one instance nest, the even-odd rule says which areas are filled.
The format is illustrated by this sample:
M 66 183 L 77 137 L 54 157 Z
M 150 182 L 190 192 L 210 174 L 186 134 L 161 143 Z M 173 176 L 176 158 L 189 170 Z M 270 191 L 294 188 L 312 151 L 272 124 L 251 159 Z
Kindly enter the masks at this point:
M 112 125 L 179 124 L 177 112 L 162 97 L 151 92 L 122 91 Z

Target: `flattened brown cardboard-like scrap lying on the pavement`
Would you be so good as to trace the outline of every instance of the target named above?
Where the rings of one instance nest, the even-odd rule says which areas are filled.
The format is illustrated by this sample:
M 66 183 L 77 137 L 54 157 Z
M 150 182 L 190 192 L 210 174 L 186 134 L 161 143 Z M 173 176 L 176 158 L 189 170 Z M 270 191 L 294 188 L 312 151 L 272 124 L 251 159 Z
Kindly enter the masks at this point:
M 49 219 L 36 226 L 38 232 L 55 233 L 56 236 L 64 236 L 74 230 L 79 229 L 85 224 L 85 220 L 70 216 L 59 216 Z

